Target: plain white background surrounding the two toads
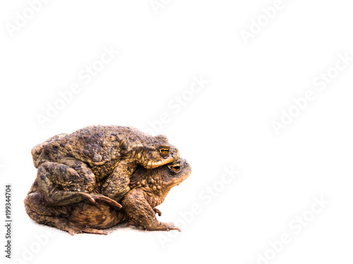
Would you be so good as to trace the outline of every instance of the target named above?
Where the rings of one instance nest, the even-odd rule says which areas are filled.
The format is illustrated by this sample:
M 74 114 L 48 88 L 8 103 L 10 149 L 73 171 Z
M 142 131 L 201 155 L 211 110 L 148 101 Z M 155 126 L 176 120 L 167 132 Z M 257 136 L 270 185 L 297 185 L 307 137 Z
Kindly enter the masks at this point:
M 338 54 L 353 57 L 352 4 L 283 0 L 266 21 L 262 8 L 274 1 L 157 2 L 156 13 L 149 0 L 49 1 L 12 37 L 9 24 L 28 2 L 1 2 L 0 218 L 11 183 L 13 263 L 247 264 L 267 263 L 259 257 L 266 252 L 269 263 L 352 263 L 353 61 L 333 69 Z M 259 18 L 261 30 L 246 44 L 241 30 L 251 32 Z M 85 84 L 78 75 L 104 46 L 120 53 Z M 320 91 L 313 80 L 328 71 L 337 77 Z M 175 96 L 190 96 L 200 76 L 208 84 L 175 113 Z M 41 126 L 38 114 L 74 83 L 80 92 Z M 271 122 L 309 90 L 315 99 L 276 134 Z M 161 114 L 169 118 L 159 132 L 193 167 L 159 206 L 160 220 L 179 220 L 182 232 L 58 231 L 38 244 L 53 229 L 24 210 L 36 175 L 32 146 L 87 125 L 148 130 Z M 232 167 L 239 175 L 222 184 Z M 329 204 L 314 214 L 315 197 Z M 185 224 L 193 204 L 200 209 Z M 290 223 L 303 214 L 310 221 L 296 233 Z M 273 256 L 270 242 L 282 234 L 290 243 Z

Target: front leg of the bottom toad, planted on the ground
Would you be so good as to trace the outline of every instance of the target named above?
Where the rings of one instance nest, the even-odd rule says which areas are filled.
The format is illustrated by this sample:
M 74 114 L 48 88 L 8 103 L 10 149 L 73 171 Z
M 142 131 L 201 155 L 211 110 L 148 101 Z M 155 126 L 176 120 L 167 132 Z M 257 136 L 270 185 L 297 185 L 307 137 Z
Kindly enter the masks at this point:
M 151 198 L 151 197 L 150 197 Z M 121 201 L 128 218 L 146 230 L 178 230 L 172 222 L 160 222 L 155 216 L 155 210 L 147 201 L 147 194 L 141 189 L 132 189 Z

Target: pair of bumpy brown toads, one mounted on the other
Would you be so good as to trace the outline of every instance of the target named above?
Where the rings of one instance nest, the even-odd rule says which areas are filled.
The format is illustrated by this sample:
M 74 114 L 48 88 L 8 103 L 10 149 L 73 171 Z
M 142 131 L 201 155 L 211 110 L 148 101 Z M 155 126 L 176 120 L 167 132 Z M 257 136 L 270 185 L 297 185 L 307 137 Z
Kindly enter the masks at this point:
M 25 209 L 36 222 L 70 234 L 107 234 L 100 229 L 127 221 L 146 230 L 179 230 L 155 217 L 155 206 L 191 174 L 167 137 L 91 126 L 47 139 L 32 157 L 38 171 Z

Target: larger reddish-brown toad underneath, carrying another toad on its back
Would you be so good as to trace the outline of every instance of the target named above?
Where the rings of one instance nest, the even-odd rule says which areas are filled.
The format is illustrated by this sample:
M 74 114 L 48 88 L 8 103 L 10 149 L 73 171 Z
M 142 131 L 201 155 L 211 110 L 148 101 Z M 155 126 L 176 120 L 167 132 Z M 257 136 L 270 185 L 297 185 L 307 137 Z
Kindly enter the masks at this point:
M 180 169 L 176 171 L 178 166 Z M 122 199 L 124 208 L 121 210 L 116 210 L 118 206 L 110 206 L 104 200 L 95 205 L 82 201 L 69 206 L 50 206 L 35 180 L 25 198 L 25 210 L 35 222 L 65 230 L 70 234 L 108 234 L 102 229 L 126 221 L 129 225 L 146 230 L 179 230 L 173 223 L 159 222 L 155 213 L 161 215 L 161 212 L 155 206 L 160 205 L 169 190 L 190 174 L 191 166 L 182 158 L 151 170 L 139 168 L 131 175 L 131 190 Z M 95 187 L 95 192 L 99 190 L 99 187 Z

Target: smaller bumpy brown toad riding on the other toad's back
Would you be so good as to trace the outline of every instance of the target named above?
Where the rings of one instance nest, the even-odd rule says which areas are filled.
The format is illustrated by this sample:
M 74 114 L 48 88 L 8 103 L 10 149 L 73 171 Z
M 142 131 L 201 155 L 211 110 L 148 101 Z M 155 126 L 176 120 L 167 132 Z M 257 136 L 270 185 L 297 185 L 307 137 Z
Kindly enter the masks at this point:
M 104 196 L 120 201 L 130 190 L 129 178 L 138 165 L 152 169 L 171 163 L 179 151 L 163 135 L 98 125 L 47 139 L 32 149 L 32 158 L 47 203 L 66 206 L 101 199 L 91 195 L 97 185 Z

